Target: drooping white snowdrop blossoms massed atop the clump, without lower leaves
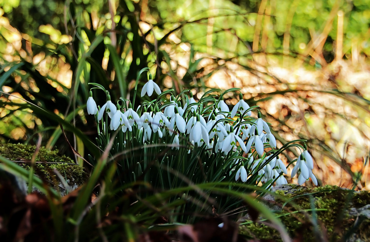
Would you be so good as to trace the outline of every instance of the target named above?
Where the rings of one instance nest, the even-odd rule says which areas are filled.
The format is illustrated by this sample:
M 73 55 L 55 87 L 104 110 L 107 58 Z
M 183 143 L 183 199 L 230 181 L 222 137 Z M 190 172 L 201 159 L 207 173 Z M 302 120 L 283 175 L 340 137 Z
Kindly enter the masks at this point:
M 146 93 L 151 96 L 153 91 L 161 95 L 161 91 L 153 80 L 149 80 L 141 91 L 141 96 Z M 184 95 L 184 94 L 182 94 Z M 122 100 L 122 98 L 121 98 Z M 183 103 L 181 103 L 183 101 Z M 144 101 L 136 111 L 131 103 L 121 107 L 115 105 L 107 94 L 107 102 L 98 109 L 92 92 L 87 101 L 88 114 L 97 115 L 101 121 L 104 113 L 110 118 L 110 129 L 117 130 L 121 127 L 122 132 L 137 132 L 137 137 L 142 137 L 142 142 L 151 142 L 152 134 L 158 132 L 160 139 L 170 137 L 172 149 L 185 147 L 191 152 L 194 146 L 205 146 L 208 152 L 223 152 L 225 156 L 235 152 L 243 155 L 245 159 L 235 159 L 231 165 L 231 172 L 235 172 L 235 180 L 239 177 L 246 182 L 252 174 L 258 173 L 258 182 L 275 181 L 276 184 L 286 184 L 283 176 L 287 174 L 285 164 L 274 155 L 276 139 L 271 134 L 269 125 L 262 120 L 258 112 L 258 118 L 252 118 L 253 107 L 239 95 L 239 102 L 230 112 L 228 105 L 213 95 L 201 98 L 199 102 L 190 97 L 176 98 L 171 96 L 169 101 L 154 100 Z M 108 122 L 108 120 L 103 122 Z M 184 141 L 184 142 L 180 142 Z M 163 141 L 161 141 L 163 142 Z M 180 145 L 180 143 L 184 145 Z M 238 149 L 240 147 L 240 149 Z M 265 149 L 267 152 L 265 152 Z M 312 173 L 313 160 L 307 150 L 297 159 L 291 176 L 300 172 L 298 183 L 303 184 L 309 178 L 317 185 L 316 177 Z M 248 175 L 249 174 L 249 175 Z

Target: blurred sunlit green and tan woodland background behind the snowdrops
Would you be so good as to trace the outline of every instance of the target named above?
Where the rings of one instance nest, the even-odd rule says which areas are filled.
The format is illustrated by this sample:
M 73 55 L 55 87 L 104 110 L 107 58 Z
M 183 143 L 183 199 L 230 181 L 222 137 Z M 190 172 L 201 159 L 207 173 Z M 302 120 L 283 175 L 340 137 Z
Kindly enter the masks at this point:
M 0 142 L 35 144 L 41 134 L 73 157 L 57 115 L 87 157 L 81 137 L 96 136 L 87 83 L 132 98 L 149 67 L 163 90 L 241 88 L 278 147 L 308 141 L 320 184 L 369 190 L 369 27 L 369 0 L 0 0 L 0 87 L 12 95 L 0 96 Z

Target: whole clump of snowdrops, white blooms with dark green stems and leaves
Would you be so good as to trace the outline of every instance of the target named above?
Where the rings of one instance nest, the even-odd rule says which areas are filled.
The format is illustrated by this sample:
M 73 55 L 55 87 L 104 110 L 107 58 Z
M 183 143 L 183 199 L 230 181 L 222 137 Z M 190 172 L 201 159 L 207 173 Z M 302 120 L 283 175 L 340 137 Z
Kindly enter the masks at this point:
M 109 92 L 97 83 L 90 84 L 101 90 L 99 101 L 105 103 L 97 106 L 91 90 L 87 100 L 88 114 L 97 121 L 98 145 L 104 151 L 112 142 L 109 156 L 117 162 L 121 183 L 140 179 L 162 189 L 189 181 L 286 184 L 289 164 L 279 155 L 296 146 L 302 153 L 290 176 L 299 174 L 299 184 L 311 178 L 317 185 L 313 160 L 306 145 L 299 144 L 303 140 L 277 148 L 257 106 L 249 107 L 241 93 L 232 108 L 223 101 L 226 93 L 239 89 L 210 89 L 195 100 L 190 90 L 177 96 L 172 89 L 162 92 L 149 75 L 141 97 L 150 101 L 142 101 L 134 110 L 138 79 L 132 103 L 122 97 L 111 100 Z

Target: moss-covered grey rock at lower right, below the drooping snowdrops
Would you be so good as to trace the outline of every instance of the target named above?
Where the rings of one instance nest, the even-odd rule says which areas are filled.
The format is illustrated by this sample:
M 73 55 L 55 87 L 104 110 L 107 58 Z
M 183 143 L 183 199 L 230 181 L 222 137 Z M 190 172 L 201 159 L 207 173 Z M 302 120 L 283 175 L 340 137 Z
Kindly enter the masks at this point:
M 370 241 L 370 217 L 363 212 L 367 208 L 364 206 L 370 204 L 368 191 L 356 192 L 337 186 L 284 187 L 275 191 L 273 199 L 271 194 L 265 198 L 266 205 L 276 212 L 291 238 L 299 241 L 323 241 L 323 238 L 328 241 Z M 312 208 L 316 210 L 314 213 Z M 240 232 L 258 239 L 281 241 L 278 231 L 258 222 L 242 222 Z

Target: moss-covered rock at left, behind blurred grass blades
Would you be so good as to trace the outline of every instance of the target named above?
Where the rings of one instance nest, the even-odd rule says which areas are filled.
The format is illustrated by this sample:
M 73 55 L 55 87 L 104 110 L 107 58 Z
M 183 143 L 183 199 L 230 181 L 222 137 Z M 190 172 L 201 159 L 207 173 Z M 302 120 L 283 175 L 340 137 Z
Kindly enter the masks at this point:
M 24 145 L 24 144 L 1 144 L 0 155 L 9 160 L 17 162 L 18 165 L 24 169 L 30 169 L 30 161 L 35 152 L 36 146 Z M 64 155 L 58 155 L 58 150 L 49 151 L 44 147 L 41 147 L 36 157 L 35 173 L 49 182 L 50 186 L 57 190 L 60 190 L 64 194 L 64 189 L 61 189 L 63 185 L 57 178 L 53 169 L 57 169 L 58 172 L 64 177 L 71 189 L 75 189 L 80 186 L 86 179 L 87 173 L 84 168 L 75 165 L 74 162 Z M 46 163 L 47 162 L 47 163 Z

